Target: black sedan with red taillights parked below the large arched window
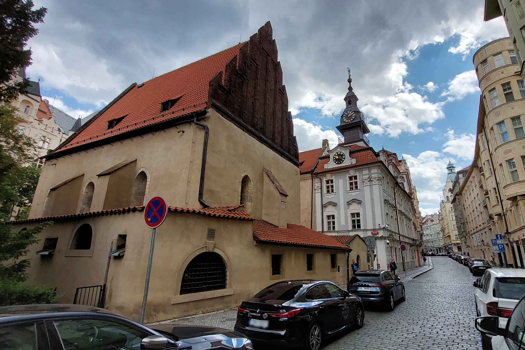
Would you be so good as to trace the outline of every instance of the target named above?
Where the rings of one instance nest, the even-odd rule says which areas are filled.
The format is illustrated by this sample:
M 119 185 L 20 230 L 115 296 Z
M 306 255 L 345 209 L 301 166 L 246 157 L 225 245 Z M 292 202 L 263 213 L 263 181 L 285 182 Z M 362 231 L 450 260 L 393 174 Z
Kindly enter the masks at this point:
M 321 341 L 352 326 L 362 327 L 361 300 L 328 281 L 274 283 L 237 311 L 235 331 L 255 343 L 318 350 Z

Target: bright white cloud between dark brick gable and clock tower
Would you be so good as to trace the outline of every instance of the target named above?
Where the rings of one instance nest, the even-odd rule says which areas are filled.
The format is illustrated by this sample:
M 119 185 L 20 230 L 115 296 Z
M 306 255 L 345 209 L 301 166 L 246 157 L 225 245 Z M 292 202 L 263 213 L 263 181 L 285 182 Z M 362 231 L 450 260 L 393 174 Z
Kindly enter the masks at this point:
M 293 133 L 297 136 L 299 152 L 320 148 L 323 139 L 328 140 L 330 148 L 339 143 L 335 131 L 322 130 L 321 125 L 309 123 L 299 118 L 293 119 Z

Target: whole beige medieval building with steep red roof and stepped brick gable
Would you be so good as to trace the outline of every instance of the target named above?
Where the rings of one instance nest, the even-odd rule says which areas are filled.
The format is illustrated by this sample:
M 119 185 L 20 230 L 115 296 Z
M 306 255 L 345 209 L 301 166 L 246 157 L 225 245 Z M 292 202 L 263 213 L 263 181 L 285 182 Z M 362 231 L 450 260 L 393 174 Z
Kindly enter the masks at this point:
M 301 226 L 300 172 L 268 22 L 215 55 L 133 83 L 46 155 L 29 219 L 29 281 L 145 322 L 236 307 L 286 279 L 348 281 L 350 249 Z M 346 242 L 345 242 L 346 243 Z M 95 287 L 92 287 L 95 286 Z M 97 289 L 98 288 L 98 289 Z M 78 296 L 78 298 L 77 298 Z

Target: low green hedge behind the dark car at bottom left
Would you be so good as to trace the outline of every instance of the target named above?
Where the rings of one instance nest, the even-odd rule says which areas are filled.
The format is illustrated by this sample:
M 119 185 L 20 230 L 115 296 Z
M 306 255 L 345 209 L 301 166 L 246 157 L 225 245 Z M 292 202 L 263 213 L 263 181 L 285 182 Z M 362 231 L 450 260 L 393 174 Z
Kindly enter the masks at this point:
M 53 304 L 56 303 L 55 291 L 39 284 L 20 284 L 14 281 L 0 282 L 0 306 Z

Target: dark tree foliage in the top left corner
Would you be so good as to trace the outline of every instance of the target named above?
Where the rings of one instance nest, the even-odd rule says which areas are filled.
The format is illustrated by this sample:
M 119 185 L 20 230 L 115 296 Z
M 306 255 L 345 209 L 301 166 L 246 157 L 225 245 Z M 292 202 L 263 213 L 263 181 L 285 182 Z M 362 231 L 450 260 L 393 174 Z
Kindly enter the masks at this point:
M 0 0 L 0 102 L 12 101 L 29 86 L 15 81 L 17 72 L 31 63 L 31 50 L 24 44 L 38 33 L 33 24 L 44 22 L 47 9 L 33 10 L 30 0 Z

